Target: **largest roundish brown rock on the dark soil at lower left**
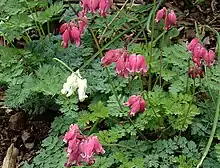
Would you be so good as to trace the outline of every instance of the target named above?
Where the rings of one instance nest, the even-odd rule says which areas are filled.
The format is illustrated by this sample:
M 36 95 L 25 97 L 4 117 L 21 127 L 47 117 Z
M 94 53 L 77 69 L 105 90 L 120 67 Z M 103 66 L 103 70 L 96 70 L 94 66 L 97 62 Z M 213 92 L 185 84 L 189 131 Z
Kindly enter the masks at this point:
M 22 112 L 12 115 L 9 119 L 9 128 L 13 131 L 23 130 L 24 124 L 24 115 Z

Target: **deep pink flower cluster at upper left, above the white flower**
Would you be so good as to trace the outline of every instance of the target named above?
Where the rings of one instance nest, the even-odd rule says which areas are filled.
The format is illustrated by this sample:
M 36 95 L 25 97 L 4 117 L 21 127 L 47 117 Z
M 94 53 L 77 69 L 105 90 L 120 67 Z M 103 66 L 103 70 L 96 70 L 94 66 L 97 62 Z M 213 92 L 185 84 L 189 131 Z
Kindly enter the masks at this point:
M 64 23 L 60 27 L 60 33 L 62 34 L 62 46 L 68 47 L 69 41 L 75 43 L 77 47 L 80 46 L 81 36 L 84 33 L 85 28 L 88 25 L 88 19 L 82 12 L 79 12 L 77 22 Z

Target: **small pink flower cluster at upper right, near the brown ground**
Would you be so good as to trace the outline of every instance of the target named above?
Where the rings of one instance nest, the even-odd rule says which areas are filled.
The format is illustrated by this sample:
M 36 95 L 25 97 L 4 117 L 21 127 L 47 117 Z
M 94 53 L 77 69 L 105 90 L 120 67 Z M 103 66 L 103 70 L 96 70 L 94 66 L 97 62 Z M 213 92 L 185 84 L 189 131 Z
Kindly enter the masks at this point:
M 155 18 L 155 22 L 158 23 L 161 19 L 165 20 L 165 29 L 169 30 L 171 26 L 177 25 L 176 14 L 173 10 L 168 12 L 168 10 L 163 7 L 163 9 L 158 10 Z

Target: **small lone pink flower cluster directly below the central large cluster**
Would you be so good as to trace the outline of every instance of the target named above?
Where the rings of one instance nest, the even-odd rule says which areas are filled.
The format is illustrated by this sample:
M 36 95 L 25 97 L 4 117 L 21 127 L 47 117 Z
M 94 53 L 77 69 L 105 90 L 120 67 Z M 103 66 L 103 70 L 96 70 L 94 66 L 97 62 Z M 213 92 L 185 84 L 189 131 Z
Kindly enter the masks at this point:
M 130 116 L 135 116 L 138 112 L 144 112 L 146 107 L 146 102 L 141 96 L 133 95 L 131 96 L 124 105 L 131 107 L 131 111 L 129 112 Z

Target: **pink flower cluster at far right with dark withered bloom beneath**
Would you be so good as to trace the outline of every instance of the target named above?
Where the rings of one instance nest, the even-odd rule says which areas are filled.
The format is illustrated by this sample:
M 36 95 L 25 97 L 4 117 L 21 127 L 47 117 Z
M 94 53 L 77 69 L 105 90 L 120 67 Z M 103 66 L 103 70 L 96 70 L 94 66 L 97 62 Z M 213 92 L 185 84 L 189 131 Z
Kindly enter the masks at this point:
M 190 43 L 186 43 L 187 50 L 192 55 L 192 61 L 194 66 L 189 69 L 189 76 L 196 78 L 198 75 L 204 77 L 204 71 L 202 65 L 208 66 L 209 68 L 215 61 L 215 53 L 212 50 L 205 49 L 197 38 L 194 38 Z

